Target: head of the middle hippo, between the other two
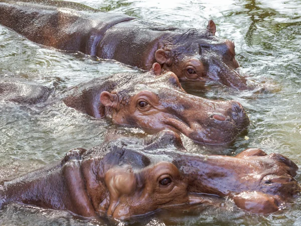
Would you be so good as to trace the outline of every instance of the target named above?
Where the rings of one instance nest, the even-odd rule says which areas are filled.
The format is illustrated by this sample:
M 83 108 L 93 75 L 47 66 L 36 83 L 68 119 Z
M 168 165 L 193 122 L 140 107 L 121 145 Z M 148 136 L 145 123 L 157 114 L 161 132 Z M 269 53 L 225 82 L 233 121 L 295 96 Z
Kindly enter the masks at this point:
M 240 103 L 188 94 L 173 72 L 161 74 L 158 63 L 152 71 L 134 75 L 130 83 L 101 92 L 100 102 L 115 124 L 168 128 L 200 143 L 231 142 L 249 124 Z

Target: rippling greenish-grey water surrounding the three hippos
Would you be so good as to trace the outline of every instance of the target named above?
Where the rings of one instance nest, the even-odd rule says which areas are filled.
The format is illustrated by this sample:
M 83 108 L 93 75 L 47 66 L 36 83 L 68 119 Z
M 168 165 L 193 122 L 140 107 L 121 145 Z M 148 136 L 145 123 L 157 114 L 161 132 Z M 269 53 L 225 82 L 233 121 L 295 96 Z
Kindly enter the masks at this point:
M 301 167 L 301 2 L 294 1 L 81 1 L 107 12 L 180 27 L 204 28 L 217 24 L 216 35 L 235 42 L 237 60 L 249 79 L 264 83 L 263 93 L 216 88 L 198 92 L 208 98 L 235 99 L 246 108 L 251 125 L 232 146 L 211 148 L 183 137 L 196 153 L 235 155 L 259 147 L 288 156 Z M 36 45 L 0 27 L 0 76 L 23 77 L 62 90 L 95 77 L 137 71 L 114 61 L 98 61 L 80 53 L 65 53 Z M 189 90 L 194 92 L 194 90 Z M 59 102 L 18 105 L 0 102 L 0 180 L 15 177 L 60 160 L 75 147 L 90 148 L 105 139 L 105 120 L 95 120 Z M 119 128 L 142 135 L 139 129 Z M 296 179 L 301 181 L 298 172 Z M 301 225 L 301 198 L 283 213 L 245 213 L 226 201 L 225 208 L 164 212 L 133 222 L 107 222 L 74 217 L 67 211 L 10 204 L 0 210 L 5 225 Z

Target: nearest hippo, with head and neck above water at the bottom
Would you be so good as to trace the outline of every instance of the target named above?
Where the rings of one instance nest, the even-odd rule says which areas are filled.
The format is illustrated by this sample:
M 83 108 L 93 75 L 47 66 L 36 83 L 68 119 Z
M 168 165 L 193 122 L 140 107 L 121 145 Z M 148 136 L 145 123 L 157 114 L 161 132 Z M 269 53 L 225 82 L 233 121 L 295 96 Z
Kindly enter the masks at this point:
M 0 182 L 0 207 L 18 202 L 125 220 L 218 202 L 208 194 L 267 214 L 285 207 L 300 189 L 293 178 L 298 167 L 280 154 L 255 148 L 235 157 L 190 154 L 172 131 L 134 139 L 72 149 L 61 162 Z

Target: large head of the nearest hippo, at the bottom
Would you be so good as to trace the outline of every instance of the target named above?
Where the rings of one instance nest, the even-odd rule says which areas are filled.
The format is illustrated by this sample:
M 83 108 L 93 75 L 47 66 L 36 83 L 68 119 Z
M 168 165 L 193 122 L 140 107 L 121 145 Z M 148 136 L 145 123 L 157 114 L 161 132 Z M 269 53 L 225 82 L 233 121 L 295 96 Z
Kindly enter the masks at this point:
M 183 204 L 214 204 L 204 193 L 229 196 L 251 212 L 270 213 L 299 190 L 293 179 L 297 166 L 281 155 L 249 149 L 236 157 L 203 156 L 161 143 L 179 143 L 176 136 L 161 132 L 156 149 L 109 143 L 87 151 L 81 165 L 96 213 L 126 219 Z

